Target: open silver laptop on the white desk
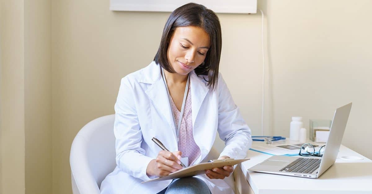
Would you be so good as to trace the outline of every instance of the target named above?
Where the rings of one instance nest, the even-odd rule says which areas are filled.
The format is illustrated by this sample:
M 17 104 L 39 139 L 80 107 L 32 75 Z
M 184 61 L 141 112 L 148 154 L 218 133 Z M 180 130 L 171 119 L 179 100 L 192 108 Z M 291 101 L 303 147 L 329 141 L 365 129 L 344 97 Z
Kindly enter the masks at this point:
M 249 168 L 250 171 L 281 174 L 295 177 L 318 178 L 336 161 L 341 140 L 349 118 L 352 103 L 337 108 L 334 112 L 330 134 L 323 157 L 291 157 L 275 155 Z

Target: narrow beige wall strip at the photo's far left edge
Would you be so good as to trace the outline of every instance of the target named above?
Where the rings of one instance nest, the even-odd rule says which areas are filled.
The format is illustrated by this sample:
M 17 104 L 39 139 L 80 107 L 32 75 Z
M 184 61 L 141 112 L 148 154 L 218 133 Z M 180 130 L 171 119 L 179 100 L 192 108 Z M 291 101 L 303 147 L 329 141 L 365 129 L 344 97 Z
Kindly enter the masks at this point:
M 22 0 L 0 1 L 1 193 L 25 193 L 24 12 Z

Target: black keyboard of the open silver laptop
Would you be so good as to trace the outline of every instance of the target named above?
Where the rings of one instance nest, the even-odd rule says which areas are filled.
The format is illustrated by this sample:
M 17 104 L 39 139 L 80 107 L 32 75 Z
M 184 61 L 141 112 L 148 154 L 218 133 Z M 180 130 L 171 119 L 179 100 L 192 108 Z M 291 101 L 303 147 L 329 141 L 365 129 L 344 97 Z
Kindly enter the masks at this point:
M 320 162 L 317 158 L 298 158 L 279 171 L 311 174 L 319 168 Z

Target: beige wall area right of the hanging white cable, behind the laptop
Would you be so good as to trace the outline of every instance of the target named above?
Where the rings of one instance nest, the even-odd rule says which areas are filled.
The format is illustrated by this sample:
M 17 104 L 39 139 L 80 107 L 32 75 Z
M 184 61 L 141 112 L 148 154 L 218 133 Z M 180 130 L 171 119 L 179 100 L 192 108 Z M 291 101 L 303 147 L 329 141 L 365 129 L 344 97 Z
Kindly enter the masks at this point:
M 372 1 L 269 2 L 274 133 L 353 102 L 342 143 L 372 158 Z

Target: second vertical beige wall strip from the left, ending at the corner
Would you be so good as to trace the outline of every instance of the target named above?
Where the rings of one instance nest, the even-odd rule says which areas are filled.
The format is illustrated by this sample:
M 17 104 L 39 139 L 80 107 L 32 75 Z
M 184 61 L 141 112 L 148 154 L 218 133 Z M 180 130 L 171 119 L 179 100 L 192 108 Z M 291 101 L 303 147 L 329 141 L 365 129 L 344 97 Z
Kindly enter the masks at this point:
M 52 193 L 51 1 L 25 0 L 26 194 Z

